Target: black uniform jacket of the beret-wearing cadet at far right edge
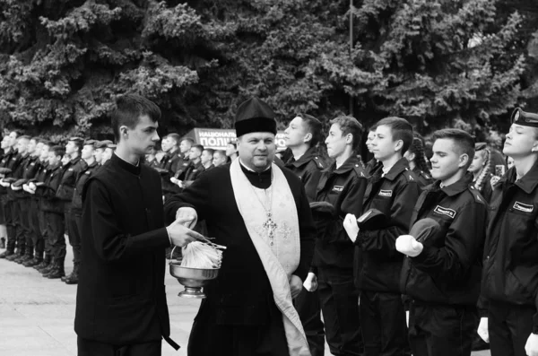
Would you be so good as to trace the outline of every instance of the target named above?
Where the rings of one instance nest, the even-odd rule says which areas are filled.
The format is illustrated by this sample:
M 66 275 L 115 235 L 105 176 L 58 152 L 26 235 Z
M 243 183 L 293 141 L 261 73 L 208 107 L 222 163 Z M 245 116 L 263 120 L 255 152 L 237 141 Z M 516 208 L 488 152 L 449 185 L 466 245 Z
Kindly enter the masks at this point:
M 517 181 L 516 168 L 508 169 L 493 187 L 482 295 L 538 309 L 538 163 Z M 538 333 L 538 314 L 533 333 Z

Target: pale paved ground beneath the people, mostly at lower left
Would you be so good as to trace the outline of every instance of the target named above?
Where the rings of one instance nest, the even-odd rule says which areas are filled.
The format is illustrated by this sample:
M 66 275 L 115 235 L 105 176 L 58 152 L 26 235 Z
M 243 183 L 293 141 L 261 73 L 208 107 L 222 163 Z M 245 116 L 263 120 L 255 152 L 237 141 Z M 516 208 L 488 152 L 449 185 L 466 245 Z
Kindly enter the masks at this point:
M 72 258 L 68 252 L 66 273 L 73 268 Z M 181 349 L 174 352 L 163 343 L 162 354 L 187 356 L 188 334 L 200 303 L 179 298 L 183 287 L 169 274 L 166 285 L 171 336 Z M 0 259 L 0 356 L 76 355 L 75 296 L 74 285 L 42 278 L 33 268 Z M 489 355 L 490 352 L 473 353 Z

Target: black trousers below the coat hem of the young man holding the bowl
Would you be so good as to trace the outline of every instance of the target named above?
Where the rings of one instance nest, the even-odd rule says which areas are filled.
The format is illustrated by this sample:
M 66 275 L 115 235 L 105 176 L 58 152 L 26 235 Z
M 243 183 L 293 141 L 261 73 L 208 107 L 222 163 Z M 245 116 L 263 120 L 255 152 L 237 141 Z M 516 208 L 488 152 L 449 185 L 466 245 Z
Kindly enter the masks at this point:
M 161 356 L 162 342 L 111 345 L 77 337 L 78 356 Z

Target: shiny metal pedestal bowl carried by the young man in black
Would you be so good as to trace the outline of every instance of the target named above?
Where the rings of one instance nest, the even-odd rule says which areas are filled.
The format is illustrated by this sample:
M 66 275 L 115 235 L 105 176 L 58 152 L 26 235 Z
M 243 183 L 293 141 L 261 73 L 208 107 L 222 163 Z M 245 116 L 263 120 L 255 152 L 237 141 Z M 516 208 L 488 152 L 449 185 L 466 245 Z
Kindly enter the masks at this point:
M 183 267 L 178 260 L 169 262 L 170 274 L 185 287 L 185 291 L 178 294 L 183 298 L 205 298 L 202 288 L 219 275 L 218 268 L 190 268 Z

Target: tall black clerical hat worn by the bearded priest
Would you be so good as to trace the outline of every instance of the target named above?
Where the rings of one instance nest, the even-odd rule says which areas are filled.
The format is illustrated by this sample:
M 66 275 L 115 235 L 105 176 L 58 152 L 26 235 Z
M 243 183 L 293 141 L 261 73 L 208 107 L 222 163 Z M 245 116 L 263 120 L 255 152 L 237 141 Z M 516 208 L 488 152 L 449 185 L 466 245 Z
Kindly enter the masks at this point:
M 256 97 L 242 102 L 236 113 L 235 129 L 238 137 L 253 132 L 270 132 L 276 135 L 273 109 Z

